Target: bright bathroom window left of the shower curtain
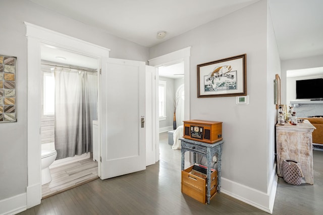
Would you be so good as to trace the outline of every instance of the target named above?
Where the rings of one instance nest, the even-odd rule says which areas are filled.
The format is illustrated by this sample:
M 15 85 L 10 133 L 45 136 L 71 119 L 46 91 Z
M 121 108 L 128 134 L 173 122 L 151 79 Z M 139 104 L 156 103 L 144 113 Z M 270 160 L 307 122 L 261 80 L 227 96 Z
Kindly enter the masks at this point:
M 43 115 L 55 113 L 55 78 L 50 73 L 44 73 Z

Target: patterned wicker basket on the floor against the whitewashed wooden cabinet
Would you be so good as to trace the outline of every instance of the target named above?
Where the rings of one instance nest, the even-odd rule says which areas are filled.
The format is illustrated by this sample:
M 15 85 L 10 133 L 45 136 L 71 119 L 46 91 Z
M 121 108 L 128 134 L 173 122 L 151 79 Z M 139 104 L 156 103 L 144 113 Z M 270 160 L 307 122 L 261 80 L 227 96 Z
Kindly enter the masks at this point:
M 284 160 L 283 162 L 283 177 L 284 180 L 293 185 L 302 183 L 303 173 L 300 165 L 294 160 Z

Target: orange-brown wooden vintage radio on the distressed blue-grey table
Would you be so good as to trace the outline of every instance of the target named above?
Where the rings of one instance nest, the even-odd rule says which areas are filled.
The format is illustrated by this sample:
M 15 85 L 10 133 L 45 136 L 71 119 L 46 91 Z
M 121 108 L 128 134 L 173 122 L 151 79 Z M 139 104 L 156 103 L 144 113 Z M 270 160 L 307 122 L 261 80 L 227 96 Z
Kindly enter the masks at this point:
M 222 140 L 222 122 L 205 120 L 184 121 L 184 138 L 214 144 Z

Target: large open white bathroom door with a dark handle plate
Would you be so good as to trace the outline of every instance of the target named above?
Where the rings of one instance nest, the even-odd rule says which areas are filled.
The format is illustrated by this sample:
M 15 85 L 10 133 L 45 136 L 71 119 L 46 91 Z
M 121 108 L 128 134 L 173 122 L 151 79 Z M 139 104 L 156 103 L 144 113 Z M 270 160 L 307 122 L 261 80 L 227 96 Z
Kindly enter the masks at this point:
M 106 179 L 146 169 L 145 62 L 107 58 L 101 68 L 100 178 Z

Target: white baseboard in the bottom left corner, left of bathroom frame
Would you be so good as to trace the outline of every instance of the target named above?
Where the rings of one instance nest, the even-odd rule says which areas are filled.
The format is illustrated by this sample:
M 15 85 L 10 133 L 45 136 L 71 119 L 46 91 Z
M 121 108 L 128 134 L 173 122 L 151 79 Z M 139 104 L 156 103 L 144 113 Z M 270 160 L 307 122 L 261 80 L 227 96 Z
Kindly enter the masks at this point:
M 0 200 L 0 214 L 16 214 L 27 209 L 27 194 L 22 193 Z

